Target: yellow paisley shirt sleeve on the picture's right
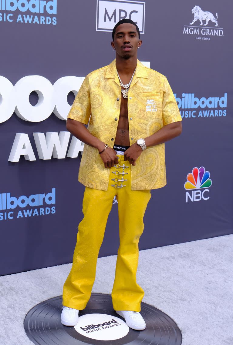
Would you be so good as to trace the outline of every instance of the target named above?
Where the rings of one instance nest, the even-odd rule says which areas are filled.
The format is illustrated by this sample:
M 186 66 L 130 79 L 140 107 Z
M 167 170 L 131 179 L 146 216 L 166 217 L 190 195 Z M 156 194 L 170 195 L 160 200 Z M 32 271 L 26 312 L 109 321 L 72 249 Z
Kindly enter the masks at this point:
M 163 84 L 162 114 L 163 114 L 164 126 L 171 124 L 172 122 L 182 121 L 175 96 L 173 94 L 171 86 L 169 85 L 166 77 L 164 79 L 164 84 Z

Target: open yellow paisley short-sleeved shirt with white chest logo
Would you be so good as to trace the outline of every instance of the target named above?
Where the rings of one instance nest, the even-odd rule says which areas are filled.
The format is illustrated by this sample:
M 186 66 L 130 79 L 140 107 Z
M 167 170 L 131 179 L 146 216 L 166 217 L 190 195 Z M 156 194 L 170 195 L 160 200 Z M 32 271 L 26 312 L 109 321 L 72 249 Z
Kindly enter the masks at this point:
M 109 147 L 113 147 L 121 101 L 121 87 L 116 60 L 89 73 L 84 79 L 68 118 L 88 124 L 88 130 Z M 130 146 L 163 126 L 181 121 L 172 89 L 165 76 L 145 67 L 137 60 L 135 75 L 128 92 Z M 117 144 L 117 143 L 116 143 Z M 107 190 L 110 169 L 98 150 L 84 145 L 78 180 L 84 186 Z M 166 185 L 165 145 L 148 147 L 131 165 L 131 189 L 156 189 Z

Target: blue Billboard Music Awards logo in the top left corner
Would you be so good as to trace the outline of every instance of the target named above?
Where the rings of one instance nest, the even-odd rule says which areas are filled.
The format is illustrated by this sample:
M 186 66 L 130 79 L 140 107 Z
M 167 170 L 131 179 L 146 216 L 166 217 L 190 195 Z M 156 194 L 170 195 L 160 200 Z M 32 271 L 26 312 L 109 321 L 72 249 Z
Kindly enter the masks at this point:
M 0 22 L 56 25 L 57 0 L 0 0 Z

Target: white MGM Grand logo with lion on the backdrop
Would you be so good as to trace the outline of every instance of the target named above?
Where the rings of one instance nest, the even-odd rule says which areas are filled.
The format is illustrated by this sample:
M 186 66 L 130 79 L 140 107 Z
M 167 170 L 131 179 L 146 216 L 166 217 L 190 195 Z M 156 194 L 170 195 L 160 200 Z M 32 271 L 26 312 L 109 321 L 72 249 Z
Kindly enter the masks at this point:
M 210 40 L 212 36 L 223 36 L 223 28 L 219 28 L 217 22 L 217 13 L 214 16 L 211 12 L 203 11 L 200 6 L 194 6 L 192 13 L 193 21 L 189 25 L 184 25 L 183 33 L 196 35 L 196 40 Z

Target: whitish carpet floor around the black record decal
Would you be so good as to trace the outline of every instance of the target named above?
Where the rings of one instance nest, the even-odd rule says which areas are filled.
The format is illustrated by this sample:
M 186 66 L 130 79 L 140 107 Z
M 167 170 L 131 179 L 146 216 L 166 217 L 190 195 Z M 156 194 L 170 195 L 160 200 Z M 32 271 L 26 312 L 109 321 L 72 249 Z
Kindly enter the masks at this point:
M 233 235 L 142 250 L 143 302 L 169 315 L 182 345 L 233 344 Z M 111 292 L 116 256 L 98 259 L 93 292 Z M 23 328 L 36 304 L 62 294 L 71 264 L 0 277 L 0 344 L 31 345 Z

